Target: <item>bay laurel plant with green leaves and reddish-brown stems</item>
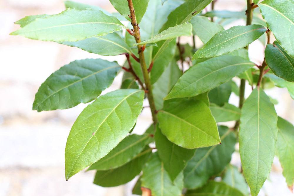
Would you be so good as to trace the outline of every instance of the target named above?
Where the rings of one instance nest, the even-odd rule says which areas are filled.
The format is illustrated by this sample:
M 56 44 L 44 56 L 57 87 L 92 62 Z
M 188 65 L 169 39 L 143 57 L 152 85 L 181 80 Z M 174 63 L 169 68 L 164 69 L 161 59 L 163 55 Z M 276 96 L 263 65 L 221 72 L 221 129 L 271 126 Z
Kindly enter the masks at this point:
M 215 11 L 212 0 L 110 2 L 117 13 L 65 1 L 60 14 L 26 16 L 11 33 L 126 57 L 123 65 L 73 61 L 36 93 L 38 112 L 93 101 L 69 132 L 66 180 L 87 168 L 96 170 L 94 183 L 103 187 L 137 176 L 137 195 L 256 196 L 277 155 L 293 186 L 294 127 L 278 117 L 276 100 L 264 89 L 287 88 L 294 98 L 294 1 L 247 0 L 243 11 Z M 203 11 L 207 6 L 211 11 Z M 246 25 L 223 28 L 236 19 Z M 193 44 L 180 43 L 181 36 Z M 248 58 L 255 40 L 265 46 L 259 65 Z M 101 95 L 119 72 L 121 89 Z M 252 92 L 245 99 L 246 83 Z M 238 106 L 228 103 L 231 93 L 239 96 Z M 133 134 L 144 99 L 153 124 Z M 227 121 L 235 126 L 218 125 Z M 230 165 L 235 151 L 239 168 Z

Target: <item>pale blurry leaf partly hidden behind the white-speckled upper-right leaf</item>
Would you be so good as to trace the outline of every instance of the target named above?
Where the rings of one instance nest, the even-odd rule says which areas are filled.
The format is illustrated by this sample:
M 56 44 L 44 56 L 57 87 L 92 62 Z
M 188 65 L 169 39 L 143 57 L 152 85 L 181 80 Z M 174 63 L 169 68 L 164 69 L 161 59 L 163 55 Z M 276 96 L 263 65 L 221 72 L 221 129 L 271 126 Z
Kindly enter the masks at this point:
M 211 22 L 204 16 L 195 16 L 191 19 L 190 23 L 193 26 L 193 35 L 197 35 L 204 44 L 216 33 L 224 30 L 220 24 Z

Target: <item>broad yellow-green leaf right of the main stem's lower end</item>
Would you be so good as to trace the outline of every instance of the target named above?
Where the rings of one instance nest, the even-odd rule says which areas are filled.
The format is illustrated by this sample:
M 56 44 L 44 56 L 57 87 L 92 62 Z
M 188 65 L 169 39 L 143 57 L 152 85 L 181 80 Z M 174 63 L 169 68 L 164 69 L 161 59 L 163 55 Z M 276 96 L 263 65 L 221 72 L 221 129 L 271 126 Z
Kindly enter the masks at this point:
M 193 149 L 220 143 L 216 121 L 203 101 L 171 100 L 157 116 L 161 132 L 176 145 Z

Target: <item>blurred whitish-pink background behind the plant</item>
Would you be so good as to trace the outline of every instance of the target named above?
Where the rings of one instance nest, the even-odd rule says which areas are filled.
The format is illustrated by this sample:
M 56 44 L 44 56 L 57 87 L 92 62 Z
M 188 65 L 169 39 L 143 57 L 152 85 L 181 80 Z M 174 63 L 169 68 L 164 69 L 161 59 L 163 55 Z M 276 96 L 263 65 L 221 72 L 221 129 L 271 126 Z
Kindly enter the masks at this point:
M 101 6 L 109 12 L 115 11 L 108 0 L 76 1 Z M 241 11 L 244 8 L 244 0 L 218 0 L 215 4 L 215 10 Z M 9 33 L 19 28 L 14 22 L 25 16 L 57 14 L 62 10 L 62 0 L 0 0 L 0 196 L 131 195 L 136 179 L 125 186 L 103 188 L 92 184 L 93 172 L 82 171 L 65 181 L 66 139 L 71 125 L 86 104 L 41 113 L 32 110 L 39 86 L 61 66 L 84 58 L 116 60 L 121 65 L 125 61 L 123 56 L 103 57 L 53 42 L 9 36 Z M 244 24 L 240 19 L 225 26 L 225 29 Z M 181 42 L 191 42 L 191 38 L 181 38 Z M 201 41 L 197 40 L 197 44 L 200 47 Z M 261 64 L 263 51 L 264 46 L 260 41 L 250 44 L 251 61 Z M 103 94 L 118 89 L 121 77 L 119 74 Z M 235 81 L 239 82 L 238 79 Z M 251 87 L 247 86 L 246 97 L 250 92 Z M 278 115 L 294 123 L 294 101 L 287 90 L 272 88 L 266 90 L 266 93 L 278 100 L 279 103 L 275 105 Z M 238 98 L 233 93 L 230 103 L 238 105 Z M 149 108 L 144 109 L 134 132 L 143 133 L 151 124 L 150 116 Z M 232 126 L 233 122 L 227 125 Z M 240 165 L 237 153 L 233 154 L 232 163 Z M 262 195 L 293 195 L 287 188 L 277 158 L 260 192 Z

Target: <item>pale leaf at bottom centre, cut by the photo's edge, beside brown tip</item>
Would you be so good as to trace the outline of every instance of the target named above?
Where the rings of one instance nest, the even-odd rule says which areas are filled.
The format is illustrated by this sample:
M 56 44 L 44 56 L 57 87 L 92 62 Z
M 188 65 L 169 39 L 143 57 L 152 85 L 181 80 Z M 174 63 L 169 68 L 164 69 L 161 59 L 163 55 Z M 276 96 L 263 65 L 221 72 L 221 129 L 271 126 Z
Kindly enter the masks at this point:
M 153 153 L 146 166 L 143 168 L 141 178 L 142 187 L 149 188 L 152 196 L 175 196 L 181 195 L 183 187 L 183 173 L 171 181 L 163 167 L 158 153 Z

